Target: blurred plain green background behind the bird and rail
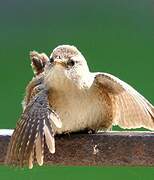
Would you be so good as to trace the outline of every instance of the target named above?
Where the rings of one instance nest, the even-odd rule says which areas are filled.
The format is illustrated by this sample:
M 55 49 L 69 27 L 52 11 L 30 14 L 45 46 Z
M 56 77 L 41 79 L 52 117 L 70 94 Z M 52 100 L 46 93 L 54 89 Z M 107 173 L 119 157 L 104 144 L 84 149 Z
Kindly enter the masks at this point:
M 0 128 L 14 128 L 33 73 L 29 51 L 73 44 L 91 71 L 112 73 L 154 103 L 153 0 L 0 1 Z M 118 128 L 116 128 L 118 129 Z M 0 179 L 153 179 L 154 168 L 0 167 Z

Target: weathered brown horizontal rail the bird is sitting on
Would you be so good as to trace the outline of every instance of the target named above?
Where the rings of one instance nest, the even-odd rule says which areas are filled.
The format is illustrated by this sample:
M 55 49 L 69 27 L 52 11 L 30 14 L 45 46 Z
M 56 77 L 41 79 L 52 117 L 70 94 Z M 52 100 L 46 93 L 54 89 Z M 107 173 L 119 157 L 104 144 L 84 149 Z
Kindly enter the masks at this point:
M 0 164 L 12 131 L 0 130 Z M 56 153 L 45 150 L 45 164 L 75 166 L 154 166 L 154 133 L 106 132 L 56 137 Z

